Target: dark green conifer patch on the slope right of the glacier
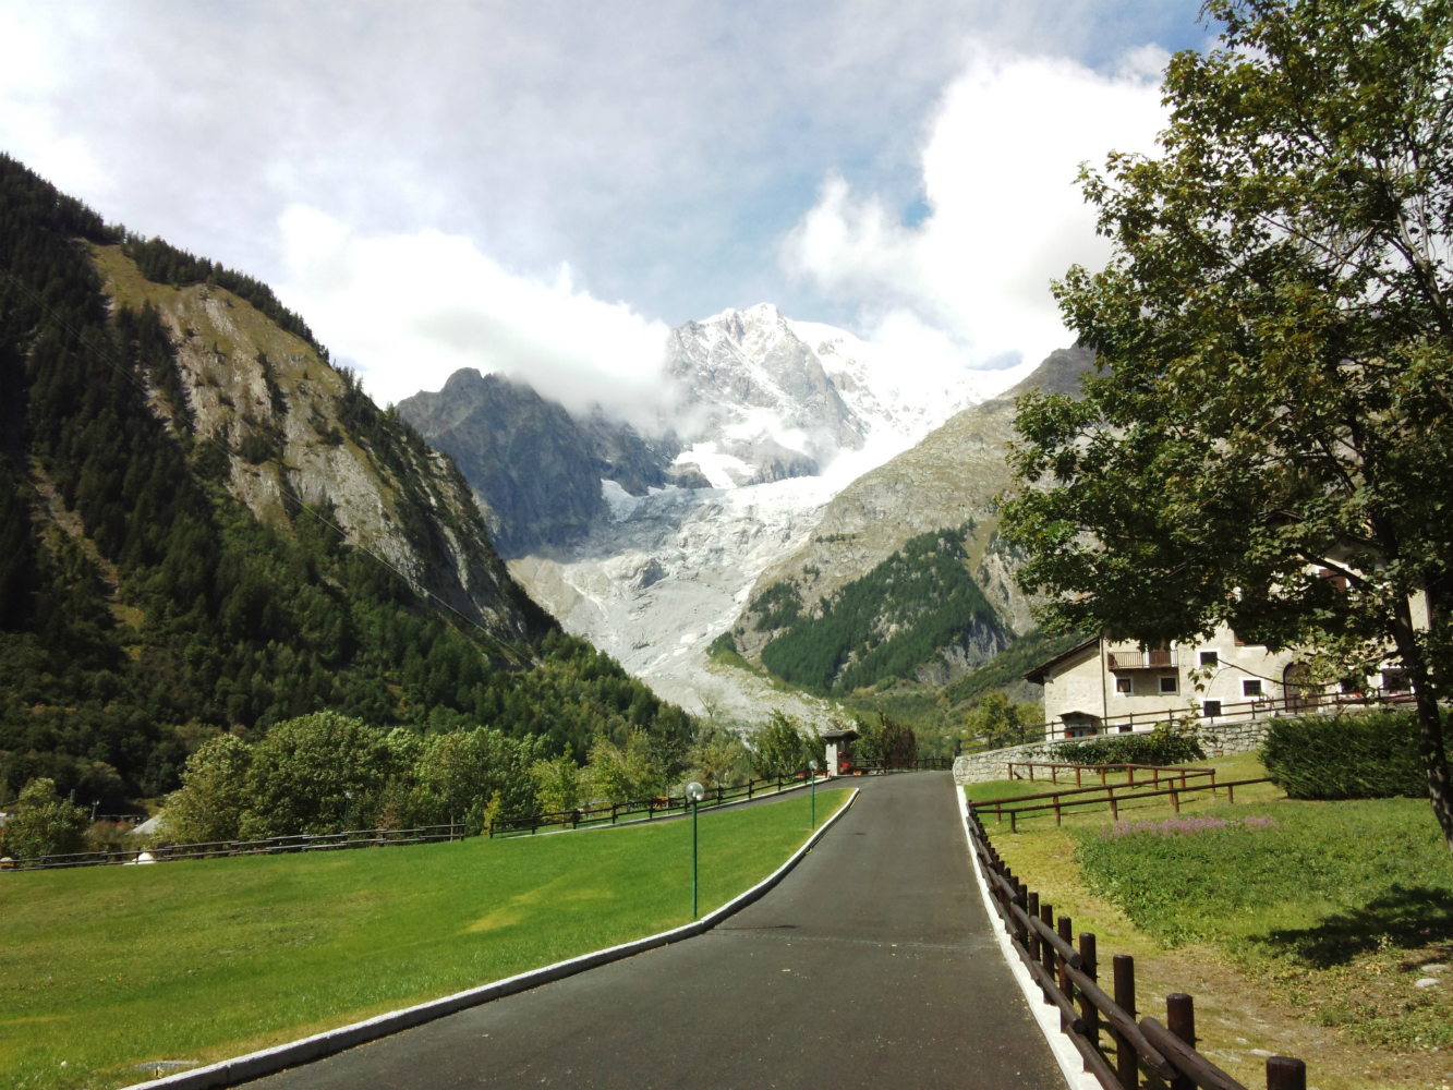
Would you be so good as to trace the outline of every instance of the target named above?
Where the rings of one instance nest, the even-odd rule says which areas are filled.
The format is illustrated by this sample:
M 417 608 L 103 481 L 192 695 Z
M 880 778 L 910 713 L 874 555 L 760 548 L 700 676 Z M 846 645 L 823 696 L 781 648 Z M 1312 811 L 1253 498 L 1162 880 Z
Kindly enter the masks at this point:
M 796 583 L 769 587 L 747 613 L 757 631 L 773 634 L 763 666 L 815 692 L 849 693 L 936 666 L 962 673 L 992 658 L 1014 634 L 969 574 L 971 529 L 911 538 L 809 609 Z

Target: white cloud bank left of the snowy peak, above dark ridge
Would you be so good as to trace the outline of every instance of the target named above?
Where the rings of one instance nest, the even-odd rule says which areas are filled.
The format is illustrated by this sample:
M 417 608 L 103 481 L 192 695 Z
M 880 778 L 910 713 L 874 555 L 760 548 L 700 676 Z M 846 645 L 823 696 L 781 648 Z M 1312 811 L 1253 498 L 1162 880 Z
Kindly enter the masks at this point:
M 571 411 L 602 404 L 638 423 L 661 401 L 667 327 L 554 280 L 504 269 L 461 235 L 359 237 L 307 205 L 280 219 L 279 295 L 376 401 L 439 389 L 459 368 L 527 381 Z

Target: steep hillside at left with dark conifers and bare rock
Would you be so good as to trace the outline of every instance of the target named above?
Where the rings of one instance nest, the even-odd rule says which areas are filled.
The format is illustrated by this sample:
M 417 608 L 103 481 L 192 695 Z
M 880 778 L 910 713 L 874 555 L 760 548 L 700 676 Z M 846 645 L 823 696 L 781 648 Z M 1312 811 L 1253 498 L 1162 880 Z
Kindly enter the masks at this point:
M 266 285 L 0 156 L 0 794 L 119 810 L 324 708 L 578 756 L 690 731 L 529 602 L 452 462 Z

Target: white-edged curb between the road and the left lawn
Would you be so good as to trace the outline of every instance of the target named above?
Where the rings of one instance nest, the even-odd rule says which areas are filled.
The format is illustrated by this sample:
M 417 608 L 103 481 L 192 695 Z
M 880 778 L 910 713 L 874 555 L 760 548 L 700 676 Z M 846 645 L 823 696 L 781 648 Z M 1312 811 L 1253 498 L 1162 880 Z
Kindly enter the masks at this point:
M 355 1022 L 352 1026 L 330 1029 L 325 1033 L 315 1033 L 314 1036 L 304 1038 L 302 1041 L 292 1041 L 286 1045 L 264 1048 L 260 1052 L 248 1052 L 246 1057 L 224 1059 L 218 1064 L 209 1064 L 208 1067 L 199 1067 L 192 1071 L 179 1071 L 174 1075 L 154 1078 L 150 1083 L 134 1083 L 132 1086 L 125 1087 L 125 1090 L 151 1090 L 153 1087 L 169 1087 L 170 1090 L 211 1090 L 212 1087 L 219 1086 L 235 1086 L 237 1083 L 246 1083 L 253 1078 L 275 1074 L 276 1071 L 282 1071 L 288 1067 L 298 1067 L 299 1064 L 307 1064 L 312 1059 L 330 1057 L 334 1052 L 341 1052 L 347 1048 L 353 1048 L 355 1045 L 362 1045 L 366 1041 L 388 1036 L 389 1033 L 411 1029 L 413 1026 L 423 1025 L 424 1022 L 433 1022 L 434 1019 L 453 1014 L 465 1010 L 466 1007 L 477 1007 L 481 1003 L 490 1003 L 491 1000 L 503 998 L 504 996 L 513 996 L 517 991 L 527 991 L 529 988 L 538 988 L 541 984 L 549 984 L 551 981 L 564 980 L 565 977 L 574 977 L 577 972 L 593 969 L 597 965 L 606 965 L 613 961 L 620 961 L 622 958 L 644 953 L 645 950 L 654 950 L 658 946 L 667 946 L 673 942 L 680 942 L 681 939 L 703 934 L 728 916 L 741 911 L 748 904 L 758 900 L 777 882 L 786 878 L 788 872 L 802 862 L 802 857 L 811 852 L 812 846 L 822 839 L 822 834 L 833 827 L 833 823 L 843 817 L 843 814 L 846 814 L 857 801 L 860 791 L 862 788 L 853 788 L 853 794 L 849 796 L 847 802 L 844 802 L 833 817 L 824 821 L 817 833 L 808 837 L 808 841 L 792 853 L 788 862 L 757 882 L 757 885 L 751 887 L 751 889 L 740 894 L 716 911 L 703 916 L 700 920 L 683 924 L 681 927 L 676 927 L 670 932 L 647 936 L 645 939 L 635 939 L 634 942 L 625 942 L 619 946 L 596 950 L 594 953 L 581 953 L 577 958 L 558 961 L 542 969 L 530 969 L 529 972 L 520 972 L 514 977 L 506 977 L 504 980 L 497 980 L 493 984 L 484 984 L 478 988 L 456 991 L 453 996 L 445 996 L 442 998 L 430 1000 L 429 1003 L 404 1007 L 402 1010 L 391 1010 L 386 1014 L 371 1017 L 366 1022 Z

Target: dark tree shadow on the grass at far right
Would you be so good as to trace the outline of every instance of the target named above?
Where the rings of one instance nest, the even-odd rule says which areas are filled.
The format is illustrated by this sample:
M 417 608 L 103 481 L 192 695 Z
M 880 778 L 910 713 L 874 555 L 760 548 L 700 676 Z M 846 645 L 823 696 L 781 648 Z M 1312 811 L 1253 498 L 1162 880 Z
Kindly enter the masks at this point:
M 1453 939 L 1453 892 L 1395 885 L 1361 908 L 1329 916 L 1316 927 L 1273 930 L 1252 942 L 1318 969 L 1347 965 L 1361 953 L 1396 946 L 1417 950 Z

